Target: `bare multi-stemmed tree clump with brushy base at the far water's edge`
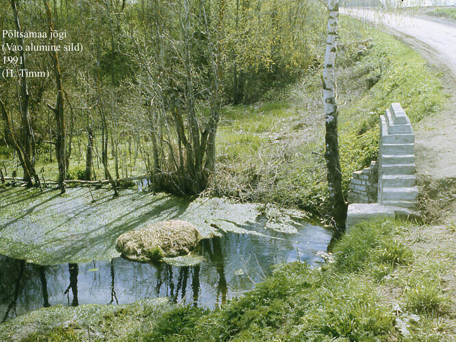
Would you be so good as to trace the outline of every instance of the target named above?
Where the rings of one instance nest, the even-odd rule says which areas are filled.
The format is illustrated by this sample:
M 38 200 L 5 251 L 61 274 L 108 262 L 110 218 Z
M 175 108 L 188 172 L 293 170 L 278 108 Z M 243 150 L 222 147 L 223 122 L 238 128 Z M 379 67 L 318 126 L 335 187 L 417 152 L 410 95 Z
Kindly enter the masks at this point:
M 225 70 L 219 34 L 227 6 L 225 0 L 211 5 L 216 7 L 206 17 L 209 5 L 203 2 L 181 0 L 164 10 L 153 1 L 147 11 L 151 25 L 144 25 L 146 39 L 131 37 L 136 46 L 131 59 L 141 66 L 132 85 L 139 90 L 135 112 L 149 123 L 144 127 L 151 133 L 147 170 L 155 190 L 199 194 L 214 172 Z M 170 23 L 167 16 L 176 21 Z M 195 35 L 201 37 L 198 47 Z M 201 57 L 203 65 L 198 64 Z M 144 97 L 149 98 L 147 111 L 141 105 Z M 202 107 L 209 109 L 207 114 Z

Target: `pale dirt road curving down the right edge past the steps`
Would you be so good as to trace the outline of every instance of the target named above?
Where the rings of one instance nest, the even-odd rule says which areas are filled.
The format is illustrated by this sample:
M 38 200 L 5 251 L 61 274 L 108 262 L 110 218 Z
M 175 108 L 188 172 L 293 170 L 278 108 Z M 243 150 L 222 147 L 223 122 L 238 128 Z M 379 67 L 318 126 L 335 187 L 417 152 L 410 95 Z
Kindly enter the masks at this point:
M 418 175 L 453 183 L 456 179 L 456 21 L 374 10 L 342 8 L 340 12 L 383 27 L 423 55 L 436 71 L 443 71 L 442 84 L 450 98 L 438 115 L 415 127 L 416 168 Z

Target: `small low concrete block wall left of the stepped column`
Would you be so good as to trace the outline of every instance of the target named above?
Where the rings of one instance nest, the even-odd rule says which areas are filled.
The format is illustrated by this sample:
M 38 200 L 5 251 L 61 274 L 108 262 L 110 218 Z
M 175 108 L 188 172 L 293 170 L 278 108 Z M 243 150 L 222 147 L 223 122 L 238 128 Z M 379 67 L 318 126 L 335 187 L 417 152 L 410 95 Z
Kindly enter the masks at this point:
M 378 194 L 377 161 L 372 161 L 368 168 L 353 172 L 349 185 L 349 203 L 376 203 Z

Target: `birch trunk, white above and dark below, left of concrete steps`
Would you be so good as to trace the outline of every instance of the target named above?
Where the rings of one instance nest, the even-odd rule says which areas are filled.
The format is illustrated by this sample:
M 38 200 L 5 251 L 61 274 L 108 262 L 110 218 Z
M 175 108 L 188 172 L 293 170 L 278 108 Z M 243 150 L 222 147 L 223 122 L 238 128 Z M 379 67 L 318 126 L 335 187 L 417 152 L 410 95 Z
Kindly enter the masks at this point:
M 325 68 L 323 70 L 323 99 L 325 100 L 325 159 L 328 169 L 329 199 L 335 228 L 344 231 L 347 205 L 342 192 L 338 142 L 338 105 L 335 102 L 335 52 L 338 40 L 339 0 L 328 0 L 328 26 L 326 38 Z

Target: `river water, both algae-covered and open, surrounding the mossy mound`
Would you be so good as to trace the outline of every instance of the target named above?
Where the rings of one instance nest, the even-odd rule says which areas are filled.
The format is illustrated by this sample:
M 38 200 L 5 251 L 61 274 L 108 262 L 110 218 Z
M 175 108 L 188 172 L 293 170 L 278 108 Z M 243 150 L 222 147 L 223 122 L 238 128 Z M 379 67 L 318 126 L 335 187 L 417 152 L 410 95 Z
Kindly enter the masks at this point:
M 0 188 L 0 321 L 42 306 L 127 304 L 168 297 L 216 308 L 253 289 L 273 265 L 318 265 L 331 232 L 306 214 L 223 198 L 123 189 Z M 190 257 L 137 263 L 116 239 L 161 220 L 187 220 L 203 239 Z

